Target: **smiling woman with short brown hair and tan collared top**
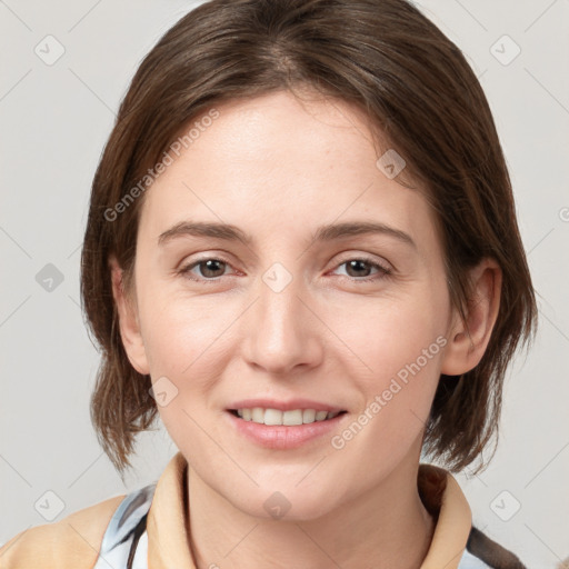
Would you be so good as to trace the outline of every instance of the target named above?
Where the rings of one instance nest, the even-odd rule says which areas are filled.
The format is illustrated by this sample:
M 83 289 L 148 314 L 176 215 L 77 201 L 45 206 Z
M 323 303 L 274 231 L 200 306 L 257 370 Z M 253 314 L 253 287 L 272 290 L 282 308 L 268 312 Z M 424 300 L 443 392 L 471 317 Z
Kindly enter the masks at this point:
M 182 18 L 97 170 L 82 296 L 108 456 L 157 415 L 179 452 L 7 568 L 523 567 L 451 472 L 483 466 L 533 290 L 485 94 L 412 4 Z

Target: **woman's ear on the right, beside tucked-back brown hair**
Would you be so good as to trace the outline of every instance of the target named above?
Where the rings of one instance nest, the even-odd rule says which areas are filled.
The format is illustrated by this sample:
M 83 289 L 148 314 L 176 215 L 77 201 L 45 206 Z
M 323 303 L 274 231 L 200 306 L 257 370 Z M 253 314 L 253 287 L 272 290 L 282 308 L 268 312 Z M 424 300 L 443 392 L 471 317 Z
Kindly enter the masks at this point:
M 471 296 L 467 302 L 467 321 L 453 310 L 453 322 L 442 358 L 441 373 L 460 376 L 475 368 L 485 355 L 498 309 L 502 271 L 493 259 L 483 259 L 470 271 Z

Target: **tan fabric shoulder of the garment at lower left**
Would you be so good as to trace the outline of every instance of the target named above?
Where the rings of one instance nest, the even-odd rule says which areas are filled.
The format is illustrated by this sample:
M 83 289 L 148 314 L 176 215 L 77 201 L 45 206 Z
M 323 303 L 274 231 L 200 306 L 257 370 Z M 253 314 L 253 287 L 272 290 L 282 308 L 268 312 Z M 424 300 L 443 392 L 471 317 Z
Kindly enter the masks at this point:
M 20 531 L 0 548 L 0 566 L 2 569 L 93 567 L 107 526 L 126 497 L 109 498 L 60 521 Z

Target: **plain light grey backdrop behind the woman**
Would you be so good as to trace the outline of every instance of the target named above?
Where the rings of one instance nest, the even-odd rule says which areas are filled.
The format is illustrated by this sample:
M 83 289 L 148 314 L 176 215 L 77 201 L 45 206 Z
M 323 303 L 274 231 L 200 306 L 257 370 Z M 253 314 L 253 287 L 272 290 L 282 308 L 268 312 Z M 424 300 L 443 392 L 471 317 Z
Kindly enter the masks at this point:
M 0 543 L 158 479 L 177 450 L 163 427 L 144 433 L 123 486 L 99 448 L 79 259 L 119 101 L 141 58 L 197 3 L 0 0 Z M 539 335 L 508 376 L 498 452 L 483 473 L 457 478 L 475 523 L 529 567 L 553 568 L 569 556 L 569 0 L 418 6 L 480 77 L 539 292 Z M 34 52 L 57 54 L 48 34 L 64 48 L 52 64 Z

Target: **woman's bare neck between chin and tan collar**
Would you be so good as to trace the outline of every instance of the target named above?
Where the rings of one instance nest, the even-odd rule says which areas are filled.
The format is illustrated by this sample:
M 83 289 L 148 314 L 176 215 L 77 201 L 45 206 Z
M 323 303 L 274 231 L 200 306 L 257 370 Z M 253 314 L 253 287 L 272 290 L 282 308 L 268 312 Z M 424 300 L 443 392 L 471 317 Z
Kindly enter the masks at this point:
M 292 521 L 239 510 L 189 467 L 189 542 L 196 567 L 419 569 L 435 523 L 419 498 L 418 465 L 400 467 L 356 499 L 318 518 Z

